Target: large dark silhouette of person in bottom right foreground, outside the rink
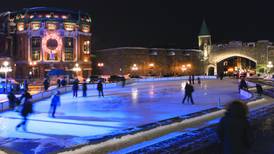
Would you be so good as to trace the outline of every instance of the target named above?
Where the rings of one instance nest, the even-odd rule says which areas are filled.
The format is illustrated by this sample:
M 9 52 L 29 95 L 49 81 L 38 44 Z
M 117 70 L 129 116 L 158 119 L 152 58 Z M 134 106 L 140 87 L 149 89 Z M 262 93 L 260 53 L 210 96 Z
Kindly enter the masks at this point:
M 241 101 L 231 102 L 217 128 L 224 154 L 247 154 L 251 130 L 248 107 Z

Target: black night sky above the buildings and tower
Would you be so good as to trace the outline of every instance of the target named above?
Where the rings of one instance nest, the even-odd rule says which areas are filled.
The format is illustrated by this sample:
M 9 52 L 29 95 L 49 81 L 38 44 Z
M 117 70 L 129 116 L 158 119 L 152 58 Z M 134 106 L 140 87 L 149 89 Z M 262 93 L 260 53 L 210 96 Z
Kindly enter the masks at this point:
M 6 0 L 0 10 L 53 6 L 80 9 L 93 18 L 95 48 L 196 48 L 203 18 L 214 43 L 274 40 L 274 7 L 234 0 Z

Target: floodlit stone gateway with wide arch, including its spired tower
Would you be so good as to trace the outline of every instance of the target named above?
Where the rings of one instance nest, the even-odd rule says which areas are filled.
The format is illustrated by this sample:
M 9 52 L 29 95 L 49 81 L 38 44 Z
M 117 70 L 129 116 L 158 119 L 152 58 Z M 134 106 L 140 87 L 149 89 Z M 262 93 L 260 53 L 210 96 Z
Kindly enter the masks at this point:
M 211 35 L 203 21 L 198 43 L 203 54 L 204 73 L 208 75 L 228 71 L 263 73 L 267 69 L 267 63 L 274 61 L 274 47 L 267 40 L 248 43 L 231 41 L 228 44 L 211 42 Z

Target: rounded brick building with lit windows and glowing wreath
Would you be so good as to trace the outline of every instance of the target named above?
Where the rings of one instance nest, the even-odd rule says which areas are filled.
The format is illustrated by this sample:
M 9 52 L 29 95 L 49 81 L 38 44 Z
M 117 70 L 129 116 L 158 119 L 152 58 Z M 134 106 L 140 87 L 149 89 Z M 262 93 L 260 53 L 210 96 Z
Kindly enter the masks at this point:
M 13 75 L 42 78 L 53 69 L 91 75 L 91 18 L 81 11 L 35 7 L 0 16 L 0 55 L 8 57 Z

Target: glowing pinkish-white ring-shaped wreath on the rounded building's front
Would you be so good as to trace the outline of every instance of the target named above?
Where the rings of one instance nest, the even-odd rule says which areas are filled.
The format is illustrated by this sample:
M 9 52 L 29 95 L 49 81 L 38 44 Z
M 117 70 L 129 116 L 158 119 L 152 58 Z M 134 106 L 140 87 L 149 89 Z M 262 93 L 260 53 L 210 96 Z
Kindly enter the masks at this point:
M 49 39 L 57 41 L 57 47 L 54 50 L 49 49 L 48 46 L 47 46 L 47 42 L 48 42 Z M 62 47 L 63 47 L 62 38 L 56 32 L 46 33 L 45 36 L 42 39 L 42 48 L 43 48 L 43 51 L 45 51 L 45 52 L 47 52 L 49 54 L 51 54 L 51 53 L 55 54 L 58 51 L 61 51 Z

